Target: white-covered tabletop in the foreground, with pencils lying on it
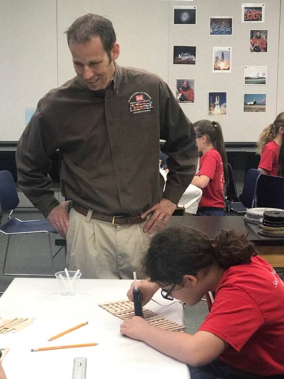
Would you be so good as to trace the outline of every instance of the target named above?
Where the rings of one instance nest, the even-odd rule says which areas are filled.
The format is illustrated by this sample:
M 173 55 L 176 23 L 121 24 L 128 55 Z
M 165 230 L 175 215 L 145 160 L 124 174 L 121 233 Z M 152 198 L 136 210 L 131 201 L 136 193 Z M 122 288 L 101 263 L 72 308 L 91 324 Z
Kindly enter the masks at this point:
M 0 347 L 10 347 L 3 359 L 7 379 L 71 379 L 75 357 L 87 358 L 86 379 L 188 379 L 187 366 L 140 341 L 119 332 L 122 320 L 98 306 L 126 299 L 132 280 L 80 279 L 74 296 L 62 296 L 56 279 L 16 278 L 0 297 L 4 319 L 34 317 L 33 324 L 17 333 L 0 335 Z M 162 298 L 160 292 L 146 308 L 168 319 L 184 323 L 183 306 Z M 170 305 L 169 305 L 170 304 Z M 48 339 L 88 321 L 56 340 Z M 95 342 L 91 347 L 31 352 L 31 348 Z

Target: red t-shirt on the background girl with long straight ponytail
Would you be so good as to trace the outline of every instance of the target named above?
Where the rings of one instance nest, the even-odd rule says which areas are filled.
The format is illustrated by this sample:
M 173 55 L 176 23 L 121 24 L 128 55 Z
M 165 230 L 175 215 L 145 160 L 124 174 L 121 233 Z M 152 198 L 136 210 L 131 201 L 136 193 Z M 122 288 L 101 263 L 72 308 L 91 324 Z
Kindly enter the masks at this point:
M 197 175 L 206 175 L 210 178 L 208 186 L 202 188 L 199 207 L 224 208 L 223 162 L 216 149 L 211 149 L 201 156 Z

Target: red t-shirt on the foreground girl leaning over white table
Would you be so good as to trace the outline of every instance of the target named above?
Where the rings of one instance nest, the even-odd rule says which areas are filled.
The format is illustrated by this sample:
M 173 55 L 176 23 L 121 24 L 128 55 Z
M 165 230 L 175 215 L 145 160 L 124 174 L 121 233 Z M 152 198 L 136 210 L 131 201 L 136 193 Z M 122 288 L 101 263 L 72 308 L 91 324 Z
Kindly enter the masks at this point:
M 230 344 L 219 356 L 223 362 L 252 374 L 284 374 L 283 281 L 259 256 L 230 267 L 199 330 Z

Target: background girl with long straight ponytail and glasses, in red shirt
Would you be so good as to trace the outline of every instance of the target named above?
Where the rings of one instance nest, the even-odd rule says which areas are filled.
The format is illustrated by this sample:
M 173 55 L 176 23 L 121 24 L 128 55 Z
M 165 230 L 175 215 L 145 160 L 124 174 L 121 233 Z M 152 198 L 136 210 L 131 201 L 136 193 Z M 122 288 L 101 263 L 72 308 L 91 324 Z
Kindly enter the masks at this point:
M 202 189 L 197 215 L 225 216 L 224 188 L 228 163 L 221 126 L 216 121 L 200 120 L 193 124 L 200 167 L 192 184 Z

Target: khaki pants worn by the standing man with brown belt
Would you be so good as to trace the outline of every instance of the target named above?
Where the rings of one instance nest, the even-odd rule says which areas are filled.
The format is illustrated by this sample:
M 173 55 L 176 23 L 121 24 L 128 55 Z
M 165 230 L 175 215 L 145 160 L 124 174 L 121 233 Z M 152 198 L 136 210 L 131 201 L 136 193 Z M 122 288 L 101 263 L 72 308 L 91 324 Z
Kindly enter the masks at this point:
M 83 278 L 133 279 L 145 277 L 142 259 L 153 234 L 143 232 L 145 223 L 113 225 L 70 211 L 67 231 L 67 268 L 80 269 Z

